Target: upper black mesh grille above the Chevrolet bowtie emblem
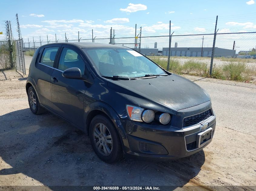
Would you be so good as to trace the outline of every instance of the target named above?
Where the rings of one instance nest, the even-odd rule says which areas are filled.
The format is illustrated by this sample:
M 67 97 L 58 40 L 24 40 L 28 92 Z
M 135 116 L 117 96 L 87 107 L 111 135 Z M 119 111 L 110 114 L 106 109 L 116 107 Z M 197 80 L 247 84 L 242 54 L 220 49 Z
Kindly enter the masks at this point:
M 183 119 L 182 127 L 184 128 L 184 127 L 188 127 L 188 126 L 198 124 L 199 122 L 209 118 L 210 116 L 212 116 L 211 109 L 209 109 L 209 110 L 207 110 L 203 113 L 199 113 L 197 115 L 186 117 L 186 118 Z

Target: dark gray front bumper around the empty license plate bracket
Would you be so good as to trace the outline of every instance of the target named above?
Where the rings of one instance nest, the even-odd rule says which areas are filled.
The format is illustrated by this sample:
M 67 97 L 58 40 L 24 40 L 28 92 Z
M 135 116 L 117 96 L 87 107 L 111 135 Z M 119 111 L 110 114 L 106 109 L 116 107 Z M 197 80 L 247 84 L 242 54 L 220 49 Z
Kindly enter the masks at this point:
M 130 120 L 118 120 L 119 125 L 125 129 L 126 136 L 123 138 L 123 149 L 128 158 L 154 159 L 178 159 L 194 154 L 206 147 L 198 147 L 197 135 L 200 132 L 212 128 L 215 131 L 216 117 L 211 116 L 204 123 L 208 123 L 205 129 L 202 124 L 181 129 L 164 125 L 148 125 L 146 123 L 133 122 Z M 125 137 L 125 138 L 124 138 Z

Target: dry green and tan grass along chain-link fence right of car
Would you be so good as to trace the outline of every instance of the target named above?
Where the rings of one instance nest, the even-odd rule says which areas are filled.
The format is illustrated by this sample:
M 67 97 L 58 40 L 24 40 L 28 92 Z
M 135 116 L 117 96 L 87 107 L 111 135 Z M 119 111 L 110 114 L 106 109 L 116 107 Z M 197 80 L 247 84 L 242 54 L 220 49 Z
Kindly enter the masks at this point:
M 161 67 L 167 68 L 167 59 L 161 56 L 148 57 Z M 256 83 L 256 63 L 253 62 L 253 59 L 251 59 L 253 63 L 247 63 L 248 59 L 231 58 L 230 61 L 228 61 L 229 59 L 224 60 L 227 61 L 221 60 L 219 63 L 217 60 L 216 63 L 214 62 L 212 78 Z M 209 68 L 207 59 L 171 57 L 170 60 L 170 72 L 176 74 L 210 77 Z

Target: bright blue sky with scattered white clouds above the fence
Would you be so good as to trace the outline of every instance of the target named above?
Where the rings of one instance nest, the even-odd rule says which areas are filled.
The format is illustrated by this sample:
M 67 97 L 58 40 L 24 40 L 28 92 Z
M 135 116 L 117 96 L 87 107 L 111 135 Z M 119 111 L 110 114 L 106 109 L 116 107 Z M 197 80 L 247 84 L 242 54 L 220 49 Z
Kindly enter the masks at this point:
M 18 13 L 22 37 L 39 40 L 67 38 L 82 39 L 109 37 L 110 27 L 116 37 L 134 36 L 135 24 L 142 27 L 142 36 L 213 33 L 218 15 L 219 33 L 256 31 L 256 3 L 254 0 L 233 1 L 15 1 L 0 3 L 1 28 L 10 20 L 16 27 Z M 138 32 L 137 32 L 138 33 Z M 14 30 L 14 36 L 16 31 Z M 0 36 L 1 38 L 1 36 Z

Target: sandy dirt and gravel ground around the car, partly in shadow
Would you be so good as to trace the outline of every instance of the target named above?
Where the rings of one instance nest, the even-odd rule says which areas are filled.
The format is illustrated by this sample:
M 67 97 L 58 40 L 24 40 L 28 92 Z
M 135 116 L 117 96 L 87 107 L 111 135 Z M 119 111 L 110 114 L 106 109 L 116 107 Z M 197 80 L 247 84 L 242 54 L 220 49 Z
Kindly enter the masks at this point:
M 251 187 L 256 186 L 256 85 L 185 76 L 197 80 L 211 96 L 217 125 L 210 145 L 177 161 L 125 159 L 106 164 L 94 154 L 83 132 L 51 113 L 32 114 L 26 76 L 15 71 L 4 74 L 0 73 L 0 186 L 4 190 L 8 189 L 4 186 L 36 185 L 42 190 L 65 185 L 256 190 Z

